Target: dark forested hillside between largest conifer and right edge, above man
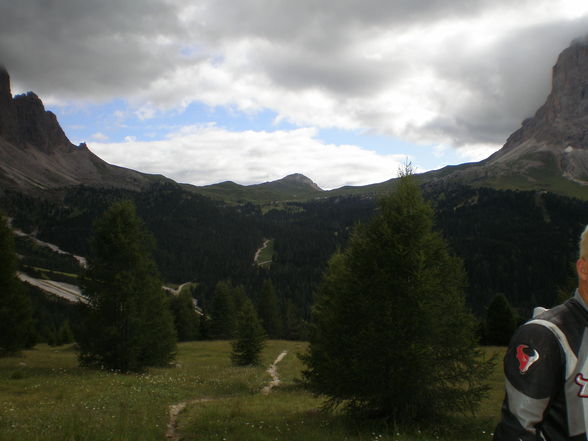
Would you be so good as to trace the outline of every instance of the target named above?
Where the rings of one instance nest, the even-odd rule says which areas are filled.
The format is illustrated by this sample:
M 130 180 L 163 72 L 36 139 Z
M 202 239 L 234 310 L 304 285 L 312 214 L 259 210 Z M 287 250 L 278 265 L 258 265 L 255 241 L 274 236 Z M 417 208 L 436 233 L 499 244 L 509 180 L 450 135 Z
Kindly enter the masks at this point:
M 547 192 L 456 187 L 430 195 L 437 224 L 464 260 L 467 298 L 481 314 L 497 293 L 528 317 L 575 287 L 588 203 Z

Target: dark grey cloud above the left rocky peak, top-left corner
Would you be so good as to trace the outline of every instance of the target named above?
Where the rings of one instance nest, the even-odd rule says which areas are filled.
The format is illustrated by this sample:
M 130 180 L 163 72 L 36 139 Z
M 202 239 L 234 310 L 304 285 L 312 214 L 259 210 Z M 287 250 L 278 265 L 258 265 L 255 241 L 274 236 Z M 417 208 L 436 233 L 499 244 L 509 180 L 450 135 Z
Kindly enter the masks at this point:
M 180 62 L 165 1 L 19 0 L 0 6 L 0 60 L 13 82 L 62 98 L 111 98 Z M 171 41 L 171 48 L 162 42 Z

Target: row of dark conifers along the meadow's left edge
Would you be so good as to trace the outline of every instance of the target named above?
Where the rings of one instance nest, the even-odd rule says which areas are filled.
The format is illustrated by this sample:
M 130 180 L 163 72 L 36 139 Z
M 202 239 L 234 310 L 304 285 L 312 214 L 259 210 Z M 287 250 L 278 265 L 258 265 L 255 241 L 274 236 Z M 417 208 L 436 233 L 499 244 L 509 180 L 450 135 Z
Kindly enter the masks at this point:
M 234 363 L 259 361 L 266 332 L 244 289 L 219 283 L 210 319 L 198 315 L 189 291 L 166 297 L 152 258 L 155 241 L 130 201 L 114 203 L 94 223 L 90 248 L 88 266 L 81 273 L 88 302 L 67 308 L 75 317 L 74 332 L 68 314 L 61 308 L 56 313 L 55 302 L 39 295 L 36 288 L 30 287 L 27 293 L 17 279 L 13 234 L 0 216 L 0 355 L 32 347 L 41 335 L 47 343 L 58 345 L 71 343 L 75 334 L 81 365 L 130 372 L 167 365 L 175 357 L 178 340 L 212 337 L 235 339 Z M 223 299 L 228 311 L 222 309 Z M 275 306 L 273 291 L 269 299 Z M 49 320 L 44 319 L 47 313 L 52 316 Z M 51 320 L 58 315 L 62 318 L 59 329 Z M 42 322 L 42 328 L 36 321 Z M 52 329 L 46 327 L 48 323 Z M 274 331 L 270 329 L 270 334 Z

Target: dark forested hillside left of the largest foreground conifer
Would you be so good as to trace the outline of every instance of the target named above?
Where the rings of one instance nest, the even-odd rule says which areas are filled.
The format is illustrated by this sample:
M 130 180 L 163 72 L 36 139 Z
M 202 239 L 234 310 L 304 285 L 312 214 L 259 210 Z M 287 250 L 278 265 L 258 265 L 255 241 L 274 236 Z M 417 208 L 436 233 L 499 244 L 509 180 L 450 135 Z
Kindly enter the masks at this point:
M 5 191 L 0 207 L 18 228 L 85 256 L 94 220 L 121 199 L 135 203 L 155 236 L 163 279 L 197 282 L 201 305 L 210 304 L 218 281 L 242 284 L 257 300 L 263 281 L 271 279 L 282 308 L 289 300 L 296 315 L 305 318 L 326 260 L 344 244 L 353 223 L 373 209 L 369 198 L 351 197 L 270 206 L 263 214 L 259 206 L 226 205 L 174 184 L 143 192 L 80 186 L 43 200 Z M 275 248 L 272 264 L 262 268 L 254 264 L 254 255 L 263 238 L 274 239 Z M 22 241 L 20 251 L 28 264 L 46 262 L 38 249 L 27 247 Z M 64 269 L 62 262 L 54 269 Z

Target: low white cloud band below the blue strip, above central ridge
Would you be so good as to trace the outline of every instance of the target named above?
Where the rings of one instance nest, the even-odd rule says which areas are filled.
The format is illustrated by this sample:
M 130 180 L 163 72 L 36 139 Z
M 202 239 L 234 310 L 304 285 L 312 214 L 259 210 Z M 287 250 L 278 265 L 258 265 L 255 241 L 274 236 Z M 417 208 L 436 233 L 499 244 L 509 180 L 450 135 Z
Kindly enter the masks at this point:
M 325 144 L 317 131 L 231 132 L 213 125 L 184 127 L 165 140 L 91 143 L 104 160 L 178 181 L 249 185 L 302 173 L 324 189 L 365 185 L 396 176 L 405 155 L 381 155 L 354 145 Z

